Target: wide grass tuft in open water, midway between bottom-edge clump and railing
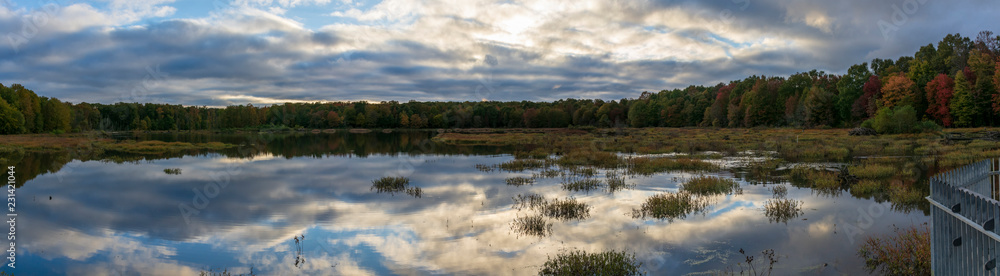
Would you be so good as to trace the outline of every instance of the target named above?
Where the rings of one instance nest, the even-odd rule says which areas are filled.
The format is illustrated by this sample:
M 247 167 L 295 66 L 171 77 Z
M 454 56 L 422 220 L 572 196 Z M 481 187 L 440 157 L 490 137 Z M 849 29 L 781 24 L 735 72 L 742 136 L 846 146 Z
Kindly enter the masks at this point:
M 688 214 L 704 211 L 708 200 L 687 191 L 662 193 L 646 199 L 639 209 L 632 209 L 632 218 L 682 219 Z

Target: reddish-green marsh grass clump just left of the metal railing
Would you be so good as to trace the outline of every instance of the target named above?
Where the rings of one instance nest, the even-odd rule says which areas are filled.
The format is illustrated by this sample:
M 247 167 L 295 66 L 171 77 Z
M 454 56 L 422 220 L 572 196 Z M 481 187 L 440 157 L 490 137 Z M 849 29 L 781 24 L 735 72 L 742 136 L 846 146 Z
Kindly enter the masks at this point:
M 930 228 L 893 228 L 894 234 L 867 237 L 858 248 L 865 269 L 882 275 L 931 275 Z

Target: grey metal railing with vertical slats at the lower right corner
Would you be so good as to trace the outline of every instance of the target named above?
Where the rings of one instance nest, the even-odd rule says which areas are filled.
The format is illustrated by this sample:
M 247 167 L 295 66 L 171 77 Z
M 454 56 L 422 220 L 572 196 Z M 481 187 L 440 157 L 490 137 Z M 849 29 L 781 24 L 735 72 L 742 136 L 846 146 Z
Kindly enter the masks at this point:
M 1000 159 L 930 179 L 931 266 L 936 275 L 1000 275 Z

